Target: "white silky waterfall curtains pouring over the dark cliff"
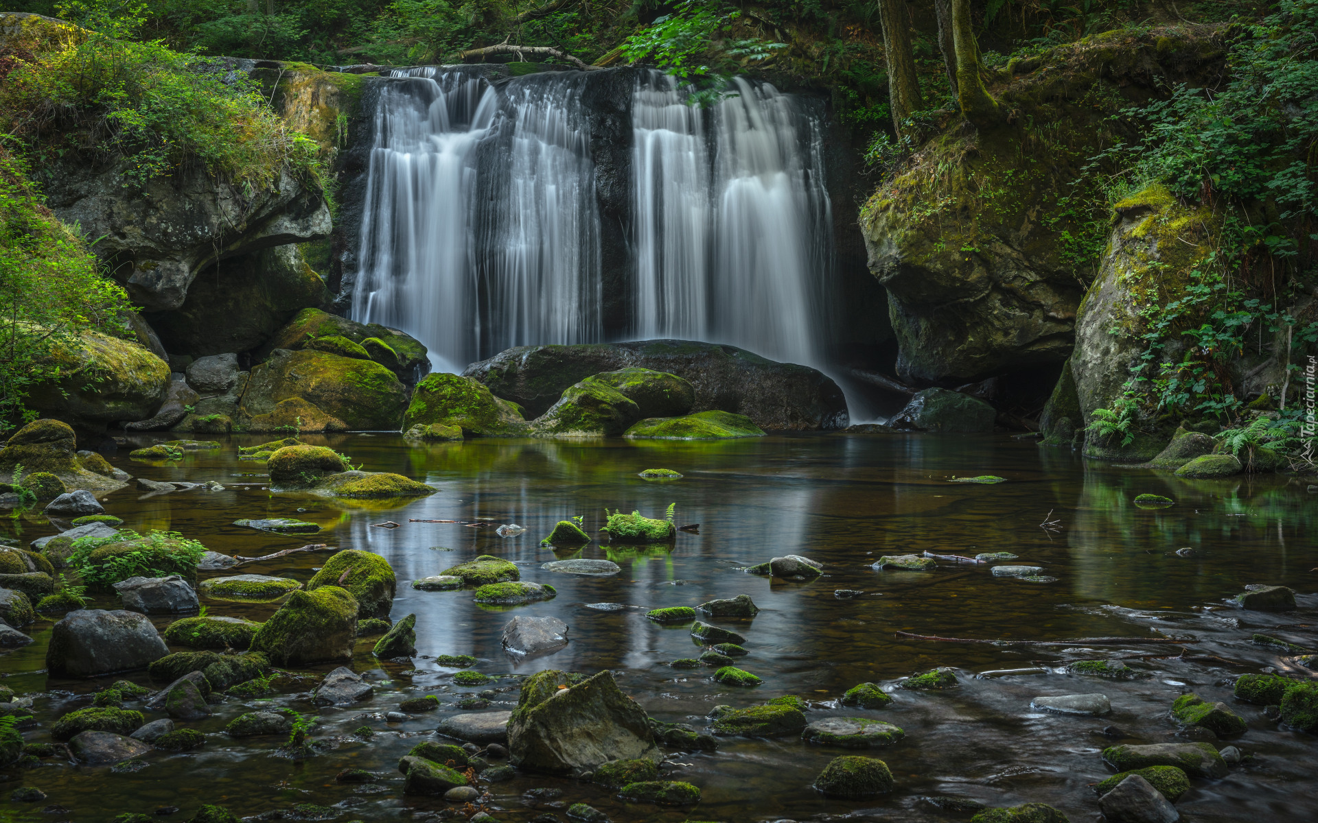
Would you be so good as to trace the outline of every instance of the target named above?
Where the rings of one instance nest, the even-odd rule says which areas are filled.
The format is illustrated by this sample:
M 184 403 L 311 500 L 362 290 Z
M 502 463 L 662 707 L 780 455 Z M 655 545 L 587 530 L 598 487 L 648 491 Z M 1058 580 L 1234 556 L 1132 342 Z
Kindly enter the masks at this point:
M 602 340 L 590 75 L 490 82 L 453 66 L 394 76 L 376 111 L 353 317 L 414 334 L 445 371 L 509 346 Z M 630 288 L 630 316 L 613 333 L 821 365 L 832 271 L 822 117 L 772 86 L 734 83 L 701 109 L 671 78 L 637 74 L 633 150 L 614 163 L 630 167 L 608 178 L 631 191 L 618 221 L 631 259 L 612 280 Z M 613 212 L 627 211 L 618 203 Z

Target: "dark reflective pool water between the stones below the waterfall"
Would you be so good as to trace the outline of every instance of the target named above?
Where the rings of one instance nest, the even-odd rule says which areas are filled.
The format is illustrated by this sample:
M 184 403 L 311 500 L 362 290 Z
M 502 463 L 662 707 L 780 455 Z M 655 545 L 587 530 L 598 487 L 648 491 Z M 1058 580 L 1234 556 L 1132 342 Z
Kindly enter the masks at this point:
M 146 444 L 163 437 L 136 440 Z M 322 710 L 304 691 L 272 702 L 229 699 L 212 719 L 192 724 L 210 735 L 204 748 L 183 755 L 154 752 L 145 758 L 146 768 L 134 773 L 51 760 L 26 772 L 9 769 L 8 782 L 0 785 L 7 799 L 18 785 L 38 786 L 49 795 L 30 805 L 30 819 L 108 822 L 125 811 L 152 814 L 177 806 L 179 811 L 159 819 L 186 820 L 202 803 L 253 815 L 303 802 L 335 806 L 341 820 L 424 818 L 447 803 L 403 797 L 397 760 L 432 735 L 440 719 L 459 712 L 452 706 L 459 697 L 489 689 L 453 685 L 455 669 L 436 666 L 438 654 L 474 654 L 480 658 L 476 670 L 493 676 L 612 669 L 622 689 L 654 718 L 697 728 L 716 704 L 742 707 L 797 694 L 812 701 L 808 719 L 870 716 L 905 731 L 896 745 L 869 752 L 884 760 L 896 778 L 896 790 L 879 799 L 828 799 L 811 787 L 832 757 L 847 752 L 792 737 L 721 737 L 717 752 L 672 753 L 664 768 L 666 778 L 701 787 L 696 809 L 629 805 L 590 783 L 522 774 L 489 786 L 489 811 L 501 820 L 529 820 L 547 811 L 565 819 L 565 806 L 573 802 L 590 803 L 614 820 L 673 823 L 956 816 L 921 799 L 929 795 L 960 795 L 992 806 L 1044 802 L 1072 820 L 1089 820 L 1098 814 L 1091 785 L 1110 774 L 1099 758 L 1102 748 L 1188 740 L 1178 736 L 1168 710 L 1189 690 L 1232 703 L 1249 731 L 1231 744 L 1252 758 L 1224 780 L 1195 781 L 1177 803 L 1182 814 L 1203 822 L 1260 814 L 1298 820 L 1311 814 L 1305 810 L 1313 807 L 1318 739 L 1278 730 L 1260 707 L 1230 697 L 1238 674 L 1267 666 L 1310 676 L 1251 643 L 1251 635 L 1263 631 L 1302 645 L 1318 644 L 1315 498 L 1301 479 L 1181 481 L 1170 473 L 1089 464 L 1069 450 L 1006 436 L 803 435 L 701 444 L 477 440 L 424 446 L 384 433 L 303 440 L 348 453 L 368 470 L 423 479 L 438 492 L 399 506 L 361 508 L 272 494 L 261 485 L 264 464 L 236 458 L 239 445 L 260 438 L 233 437 L 217 452 L 188 453 L 169 464 L 129 460 L 127 449 L 111 457 L 133 475 L 217 481 L 225 491 L 144 495 L 125 489 L 108 495 L 105 508 L 128 528 L 182 532 L 225 554 L 257 557 L 311 541 L 377 552 L 398 574 L 393 618 L 416 615 L 418 658 L 409 665 L 382 664 L 370 656 L 374 637 L 364 639 L 353 668 L 373 682 L 373 698 Z M 648 467 L 675 469 L 685 477 L 675 482 L 637 477 Z M 1008 482 L 949 482 L 979 474 Z M 1132 500 L 1143 492 L 1170 496 L 1176 504 L 1139 508 Z M 539 545 L 561 519 L 581 516 L 594 533 L 604 524 L 605 508 L 663 516 L 670 504 L 679 524 L 700 524 L 699 533 L 680 532 L 671 550 L 592 543 L 577 552 Z M 232 525 L 239 518 L 266 516 L 312 520 L 324 529 L 304 539 Z M 468 524 L 414 521 L 438 519 Z M 401 525 L 373 525 L 386 520 Z M 1053 525 L 1041 525 L 1045 520 Z M 472 521 L 492 525 L 472 528 Z M 493 528 L 514 523 L 527 531 L 500 537 Z M 33 514 L 3 520 L 0 529 L 24 540 L 57 531 Z M 1181 549 L 1189 550 L 1177 553 Z M 985 565 L 953 561 L 933 571 L 870 568 L 883 554 L 912 552 L 1010 552 L 1019 556 L 1014 562 L 1043 566 L 1056 579 L 995 578 Z M 822 562 L 824 575 L 797 582 L 741 570 L 789 553 Z M 477 554 L 518 562 L 522 579 L 552 583 L 558 597 L 490 608 L 473 603 L 471 591 L 426 593 L 410 586 L 414 578 Z M 622 570 L 588 578 L 540 569 L 546 561 L 576 556 L 609 558 Z M 241 571 L 306 581 L 327 557 L 291 554 Z M 1226 603 L 1249 583 L 1294 587 L 1301 611 L 1267 615 Z M 840 599 L 834 597 L 838 589 L 865 594 Z M 668 661 L 697 656 L 700 649 L 687 627 L 655 625 L 645 619 L 645 610 L 697 606 L 738 594 L 749 594 L 762 611 L 754 619 L 714 623 L 747 637 L 750 656 L 739 658 L 739 665 L 762 677 L 763 685 L 737 689 L 713 682 L 712 670 L 670 668 Z M 597 602 L 634 608 L 601 612 L 585 606 Z M 206 604 L 210 614 L 256 620 L 275 608 L 224 600 Z M 96 607 L 113 608 L 113 598 L 98 598 Z M 547 657 L 511 658 L 500 645 L 500 633 L 513 614 L 558 616 L 571 627 L 571 643 Z M 163 628 L 170 619 L 156 622 Z M 33 741 L 49 740 L 55 718 L 86 706 L 90 693 L 117 679 L 47 678 L 45 648 L 51 624 L 43 619 L 29 627 L 25 631 L 37 641 L 0 657 L 0 682 L 16 691 L 41 693 L 36 701 L 40 726 L 25 731 Z M 1222 662 L 1172 658 L 1180 645 L 953 644 L 899 632 L 977 640 L 1193 639 L 1193 645 L 1184 647 L 1188 654 L 1217 656 Z M 1131 657 L 1126 662 L 1145 677 L 1108 681 L 1064 672 L 1068 661 L 1095 657 Z M 956 668 L 960 686 L 938 693 L 895 687 L 900 678 L 933 666 Z M 1010 669 L 1025 672 L 1000 674 Z M 413 670 L 420 673 L 403 674 Z M 145 673 L 130 679 L 150 685 Z M 865 681 L 890 690 L 892 706 L 863 711 L 836 704 L 844 690 Z M 511 708 L 515 686 L 515 678 L 496 683 L 509 690 L 496 695 L 490 710 Z M 1110 697 L 1111 715 L 1072 718 L 1029 708 L 1036 695 L 1095 691 Z M 439 695 L 445 706 L 386 722 L 382 712 L 423 694 Z M 314 736 L 323 751 L 294 762 L 275 756 L 279 740 L 231 740 L 221 733 L 237 714 L 272 703 L 316 715 Z M 361 726 L 373 727 L 374 737 L 352 736 Z M 333 776 L 349 766 L 378 772 L 385 782 L 366 791 L 335 783 Z M 559 806 L 523 801 L 522 793 L 532 787 L 561 789 L 554 802 Z M 42 814 L 47 805 L 67 812 Z M 29 816 L 18 805 L 11 810 Z

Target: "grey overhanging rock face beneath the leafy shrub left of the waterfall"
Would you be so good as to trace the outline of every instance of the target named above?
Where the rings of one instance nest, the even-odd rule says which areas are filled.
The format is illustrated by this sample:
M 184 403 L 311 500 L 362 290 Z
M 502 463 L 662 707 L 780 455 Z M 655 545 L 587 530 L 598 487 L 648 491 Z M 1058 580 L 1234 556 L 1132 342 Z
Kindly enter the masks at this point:
M 50 179 L 49 205 L 101 238 L 94 250 L 125 273 L 129 296 L 148 311 L 182 307 L 196 275 L 217 261 L 330 236 L 322 194 L 286 171 L 248 196 L 199 165 L 125 187 L 125 163 L 61 169 Z

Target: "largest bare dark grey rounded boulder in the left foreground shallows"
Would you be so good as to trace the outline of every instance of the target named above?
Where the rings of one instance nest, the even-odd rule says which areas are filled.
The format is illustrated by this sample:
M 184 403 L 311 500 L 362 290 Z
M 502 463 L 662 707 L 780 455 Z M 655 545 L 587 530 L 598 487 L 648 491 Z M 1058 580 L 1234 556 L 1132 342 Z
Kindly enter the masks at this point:
M 169 647 L 146 615 L 84 608 L 51 628 L 46 669 L 55 677 L 100 677 L 145 669 L 166 654 Z

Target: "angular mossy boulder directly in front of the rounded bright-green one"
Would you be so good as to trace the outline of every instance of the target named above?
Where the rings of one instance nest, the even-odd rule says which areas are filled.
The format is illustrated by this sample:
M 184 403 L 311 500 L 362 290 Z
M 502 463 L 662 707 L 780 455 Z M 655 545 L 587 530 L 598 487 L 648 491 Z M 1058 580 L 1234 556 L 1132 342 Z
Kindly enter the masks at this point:
M 252 639 L 252 650 L 264 653 L 274 665 L 297 666 L 352 660 L 356 640 L 356 598 L 345 589 L 327 585 L 290 594 L 261 624 Z

